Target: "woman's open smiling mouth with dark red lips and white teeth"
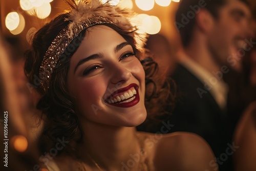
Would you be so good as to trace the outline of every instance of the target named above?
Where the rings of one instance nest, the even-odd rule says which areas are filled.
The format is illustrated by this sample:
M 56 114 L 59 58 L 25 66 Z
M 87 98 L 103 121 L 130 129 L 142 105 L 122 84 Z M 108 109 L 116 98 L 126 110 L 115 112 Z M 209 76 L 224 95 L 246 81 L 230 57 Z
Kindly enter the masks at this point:
M 129 108 L 139 102 L 138 85 L 130 84 L 125 88 L 118 89 L 105 99 L 105 102 L 121 108 Z

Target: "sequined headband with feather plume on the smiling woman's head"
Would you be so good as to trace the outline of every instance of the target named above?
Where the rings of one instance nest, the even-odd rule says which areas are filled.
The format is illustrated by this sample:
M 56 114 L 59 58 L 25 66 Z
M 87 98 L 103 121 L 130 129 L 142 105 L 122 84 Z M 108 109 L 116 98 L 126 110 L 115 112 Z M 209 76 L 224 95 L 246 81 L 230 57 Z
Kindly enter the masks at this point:
M 51 75 L 54 68 L 58 66 L 60 56 L 81 31 L 94 25 L 113 24 L 123 31 L 131 32 L 136 48 L 143 53 L 146 34 L 138 33 L 136 26 L 131 24 L 129 19 L 136 14 L 130 9 L 119 8 L 118 5 L 112 6 L 109 1 L 104 4 L 100 0 L 64 1 L 71 7 L 68 17 L 65 18 L 65 21 L 70 23 L 54 38 L 39 69 L 39 75 L 42 78 L 41 87 L 45 92 L 49 88 Z

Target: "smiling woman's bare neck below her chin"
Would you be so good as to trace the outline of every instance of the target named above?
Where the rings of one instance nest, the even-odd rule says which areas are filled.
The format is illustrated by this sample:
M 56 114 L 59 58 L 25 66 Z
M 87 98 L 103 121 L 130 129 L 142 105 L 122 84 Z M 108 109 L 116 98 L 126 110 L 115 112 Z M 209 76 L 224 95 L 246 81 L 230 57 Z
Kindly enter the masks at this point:
M 82 130 L 83 140 L 78 153 L 82 161 L 91 160 L 90 165 L 96 165 L 96 162 L 101 169 L 121 170 L 123 164 L 133 159 L 132 155 L 140 153 L 135 127 L 88 123 L 82 126 Z M 133 168 L 138 165 L 135 162 Z

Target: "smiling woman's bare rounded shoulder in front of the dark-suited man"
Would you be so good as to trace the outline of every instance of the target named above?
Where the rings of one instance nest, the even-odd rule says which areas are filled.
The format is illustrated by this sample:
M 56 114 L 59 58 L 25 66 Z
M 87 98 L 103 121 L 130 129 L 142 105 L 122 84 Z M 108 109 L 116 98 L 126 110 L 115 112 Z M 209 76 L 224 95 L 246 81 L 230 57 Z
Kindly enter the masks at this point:
M 196 134 L 177 132 L 147 136 L 151 137 L 147 144 L 152 145 L 156 170 L 218 170 L 211 148 Z

